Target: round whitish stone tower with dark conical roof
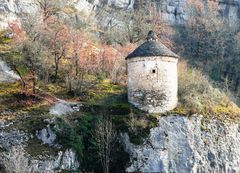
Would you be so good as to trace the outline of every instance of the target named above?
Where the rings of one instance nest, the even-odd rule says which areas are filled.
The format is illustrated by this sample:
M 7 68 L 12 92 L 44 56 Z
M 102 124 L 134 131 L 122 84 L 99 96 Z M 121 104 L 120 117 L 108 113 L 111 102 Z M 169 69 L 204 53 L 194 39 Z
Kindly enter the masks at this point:
M 127 58 L 128 101 L 149 113 L 162 113 L 177 105 L 178 56 L 157 41 L 153 31 Z

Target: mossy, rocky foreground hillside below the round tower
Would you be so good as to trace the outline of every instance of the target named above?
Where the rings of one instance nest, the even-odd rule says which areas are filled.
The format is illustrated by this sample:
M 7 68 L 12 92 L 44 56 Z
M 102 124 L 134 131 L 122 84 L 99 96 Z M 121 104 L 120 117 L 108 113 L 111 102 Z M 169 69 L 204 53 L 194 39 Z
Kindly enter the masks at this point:
M 191 94 L 197 87 L 192 84 L 184 82 L 180 86 L 192 88 L 188 90 Z M 206 83 L 202 84 L 199 86 Z M 85 102 L 69 96 L 71 101 L 54 101 L 53 95 L 68 99 L 63 97 L 63 91 L 59 95 L 52 89 L 47 92 L 52 96 L 42 100 L 41 96 L 20 94 L 17 88 L 18 83 L 5 83 L 0 90 L 1 163 L 7 172 L 16 169 L 43 173 L 47 170 L 101 172 L 95 128 L 105 124 L 102 116 L 111 117 L 118 136 L 110 172 L 239 170 L 240 111 L 236 105 L 224 105 L 229 104 L 227 100 L 225 103 L 225 96 L 214 105 L 217 95 L 211 86 L 212 95 L 206 95 L 210 98 L 203 96 L 198 100 L 200 103 L 192 102 L 197 98 L 186 100 L 189 95 L 184 93 L 185 97 L 179 96 L 179 107 L 165 114 L 136 110 L 127 103 L 126 90 L 109 81 L 92 88 Z

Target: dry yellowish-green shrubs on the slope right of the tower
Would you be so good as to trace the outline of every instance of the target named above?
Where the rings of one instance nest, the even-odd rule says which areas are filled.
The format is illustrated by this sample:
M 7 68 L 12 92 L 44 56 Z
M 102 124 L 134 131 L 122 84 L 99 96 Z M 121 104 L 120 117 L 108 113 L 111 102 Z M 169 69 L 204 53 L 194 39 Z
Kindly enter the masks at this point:
M 240 109 L 220 89 L 196 69 L 189 69 L 183 62 L 179 64 L 179 107 L 185 113 L 235 114 Z M 183 108 L 183 109 L 180 109 Z

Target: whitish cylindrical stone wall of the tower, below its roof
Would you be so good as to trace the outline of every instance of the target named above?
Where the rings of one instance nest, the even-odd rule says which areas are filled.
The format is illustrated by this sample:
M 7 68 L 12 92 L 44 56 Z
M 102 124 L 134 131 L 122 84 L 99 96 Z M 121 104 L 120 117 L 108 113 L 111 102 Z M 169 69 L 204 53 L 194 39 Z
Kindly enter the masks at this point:
M 177 59 L 137 57 L 128 60 L 128 100 L 149 113 L 173 109 L 177 104 Z

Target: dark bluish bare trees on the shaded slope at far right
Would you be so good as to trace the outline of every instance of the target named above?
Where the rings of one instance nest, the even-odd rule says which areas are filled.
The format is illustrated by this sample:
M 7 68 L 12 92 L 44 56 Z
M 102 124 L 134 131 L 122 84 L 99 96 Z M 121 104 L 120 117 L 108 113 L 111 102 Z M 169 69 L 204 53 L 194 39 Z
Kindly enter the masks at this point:
M 239 90 L 239 31 L 219 15 L 218 2 L 187 0 L 188 18 L 178 27 L 175 46 L 189 63 L 203 70 L 224 88 Z M 233 64 L 234 62 L 234 64 Z

